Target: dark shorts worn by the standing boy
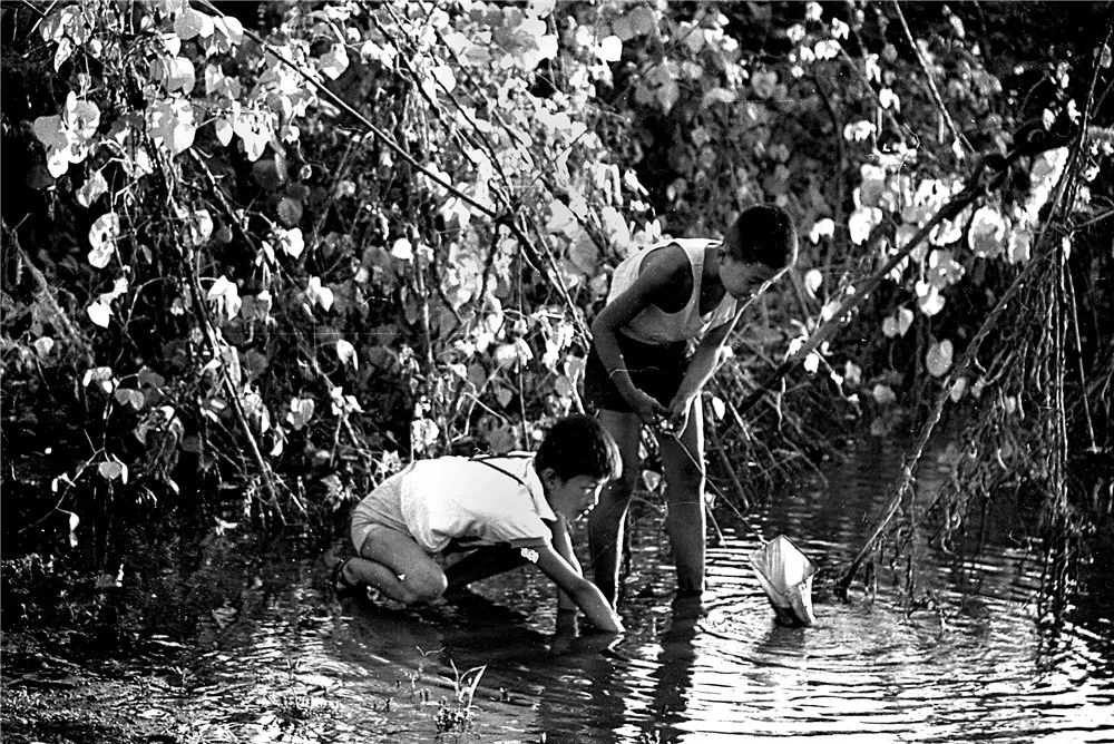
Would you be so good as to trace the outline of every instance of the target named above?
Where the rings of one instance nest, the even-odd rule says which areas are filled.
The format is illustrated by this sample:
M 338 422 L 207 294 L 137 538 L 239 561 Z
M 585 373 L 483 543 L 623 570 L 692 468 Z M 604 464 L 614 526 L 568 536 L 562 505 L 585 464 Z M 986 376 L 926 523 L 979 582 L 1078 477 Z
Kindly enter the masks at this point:
M 623 361 L 635 388 L 662 405 L 668 405 L 681 389 L 688 368 L 687 344 L 684 341 L 664 346 L 649 344 L 622 333 L 616 333 L 615 337 L 619 342 Z M 631 404 L 608 378 L 595 344 L 592 345 L 584 370 L 584 398 L 596 409 L 632 412 Z

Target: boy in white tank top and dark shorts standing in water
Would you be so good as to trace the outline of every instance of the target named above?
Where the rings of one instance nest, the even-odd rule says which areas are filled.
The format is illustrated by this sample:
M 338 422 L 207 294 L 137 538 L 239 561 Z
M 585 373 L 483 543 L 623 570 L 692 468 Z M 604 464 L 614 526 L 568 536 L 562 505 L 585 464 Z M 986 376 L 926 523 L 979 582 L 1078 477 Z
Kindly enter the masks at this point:
M 781 208 L 744 209 L 722 243 L 675 239 L 625 258 L 592 324 L 585 394 L 623 454 L 623 477 L 588 518 L 593 575 L 614 605 L 623 521 L 641 471 L 645 423 L 659 437 L 668 513 L 665 529 L 681 595 L 704 588 L 704 419 L 701 390 L 712 376 L 740 309 L 797 260 L 797 229 Z M 691 355 L 687 344 L 698 340 Z

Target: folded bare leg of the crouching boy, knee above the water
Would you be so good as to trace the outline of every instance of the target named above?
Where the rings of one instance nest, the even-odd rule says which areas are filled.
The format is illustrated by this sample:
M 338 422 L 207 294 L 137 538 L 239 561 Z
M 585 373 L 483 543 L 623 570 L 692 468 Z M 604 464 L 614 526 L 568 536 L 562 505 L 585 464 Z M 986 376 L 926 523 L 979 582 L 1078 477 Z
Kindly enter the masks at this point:
M 382 525 L 371 528 L 345 574 L 407 605 L 436 599 L 448 585 L 444 571 L 411 536 Z

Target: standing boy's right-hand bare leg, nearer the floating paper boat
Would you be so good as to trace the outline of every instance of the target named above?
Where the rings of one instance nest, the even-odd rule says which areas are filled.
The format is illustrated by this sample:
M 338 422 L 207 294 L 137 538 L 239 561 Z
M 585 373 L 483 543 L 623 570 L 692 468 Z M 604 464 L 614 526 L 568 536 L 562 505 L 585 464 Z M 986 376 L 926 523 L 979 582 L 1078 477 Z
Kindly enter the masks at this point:
M 668 513 L 665 531 L 677 566 L 677 591 L 704 590 L 704 418 L 700 398 L 680 438 L 659 437 Z

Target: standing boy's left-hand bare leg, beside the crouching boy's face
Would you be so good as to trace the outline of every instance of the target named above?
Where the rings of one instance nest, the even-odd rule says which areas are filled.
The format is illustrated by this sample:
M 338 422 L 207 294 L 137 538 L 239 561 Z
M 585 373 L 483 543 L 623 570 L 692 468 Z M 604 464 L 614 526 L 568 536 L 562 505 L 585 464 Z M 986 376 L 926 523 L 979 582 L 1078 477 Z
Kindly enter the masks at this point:
M 638 459 L 642 419 L 636 413 L 607 410 L 599 411 L 598 418 L 599 423 L 615 439 L 623 457 L 623 476 L 604 488 L 599 495 L 599 502 L 588 515 L 592 578 L 614 607 L 618 594 L 623 522 L 631 503 L 631 493 L 642 469 Z

